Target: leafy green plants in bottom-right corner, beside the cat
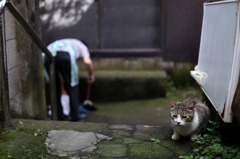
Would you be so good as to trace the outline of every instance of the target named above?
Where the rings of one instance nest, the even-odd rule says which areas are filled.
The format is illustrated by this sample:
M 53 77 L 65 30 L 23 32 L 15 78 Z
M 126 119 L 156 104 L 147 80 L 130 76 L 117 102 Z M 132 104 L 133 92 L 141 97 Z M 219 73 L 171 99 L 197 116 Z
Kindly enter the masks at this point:
M 179 156 L 182 159 L 232 159 L 240 158 L 238 148 L 234 146 L 225 146 L 222 143 L 221 135 L 217 130 L 219 126 L 209 121 L 211 128 L 207 128 L 208 133 L 198 135 L 194 142 L 193 154 L 189 156 Z

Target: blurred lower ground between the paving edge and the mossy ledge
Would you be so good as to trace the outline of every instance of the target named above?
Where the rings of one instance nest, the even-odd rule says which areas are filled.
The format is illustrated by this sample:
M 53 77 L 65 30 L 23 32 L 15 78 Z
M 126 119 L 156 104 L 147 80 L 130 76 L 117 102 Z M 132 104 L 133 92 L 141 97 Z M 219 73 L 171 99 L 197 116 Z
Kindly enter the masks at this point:
M 129 125 L 169 125 L 168 100 L 163 98 L 96 103 L 96 106 L 98 111 L 91 112 L 83 121 Z

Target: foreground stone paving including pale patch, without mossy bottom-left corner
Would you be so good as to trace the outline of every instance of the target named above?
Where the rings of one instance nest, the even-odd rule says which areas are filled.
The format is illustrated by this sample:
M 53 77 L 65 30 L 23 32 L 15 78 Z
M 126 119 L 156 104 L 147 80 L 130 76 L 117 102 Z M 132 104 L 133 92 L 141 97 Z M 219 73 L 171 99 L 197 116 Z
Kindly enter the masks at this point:
M 72 159 L 173 159 L 190 154 L 192 146 L 188 138 L 171 140 L 172 130 L 167 126 L 25 119 L 12 123 L 19 129 L 48 132 L 49 153 Z

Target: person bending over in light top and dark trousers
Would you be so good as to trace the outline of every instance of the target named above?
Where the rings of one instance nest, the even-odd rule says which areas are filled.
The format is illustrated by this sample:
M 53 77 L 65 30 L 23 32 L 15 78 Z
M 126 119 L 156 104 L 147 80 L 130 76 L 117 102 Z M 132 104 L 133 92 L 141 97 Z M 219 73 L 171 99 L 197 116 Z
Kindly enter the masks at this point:
M 77 60 L 82 58 L 88 71 L 88 83 L 95 81 L 93 73 L 93 63 L 87 46 L 77 39 L 60 39 L 48 45 L 48 49 L 55 58 L 56 71 L 56 95 L 57 95 L 57 114 L 58 120 L 64 119 L 61 104 L 61 94 L 65 90 L 70 99 L 70 121 L 78 121 L 79 106 L 79 76 Z M 48 63 L 45 60 L 45 64 Z M 64 89 L 61 87 L 63 81 Z

